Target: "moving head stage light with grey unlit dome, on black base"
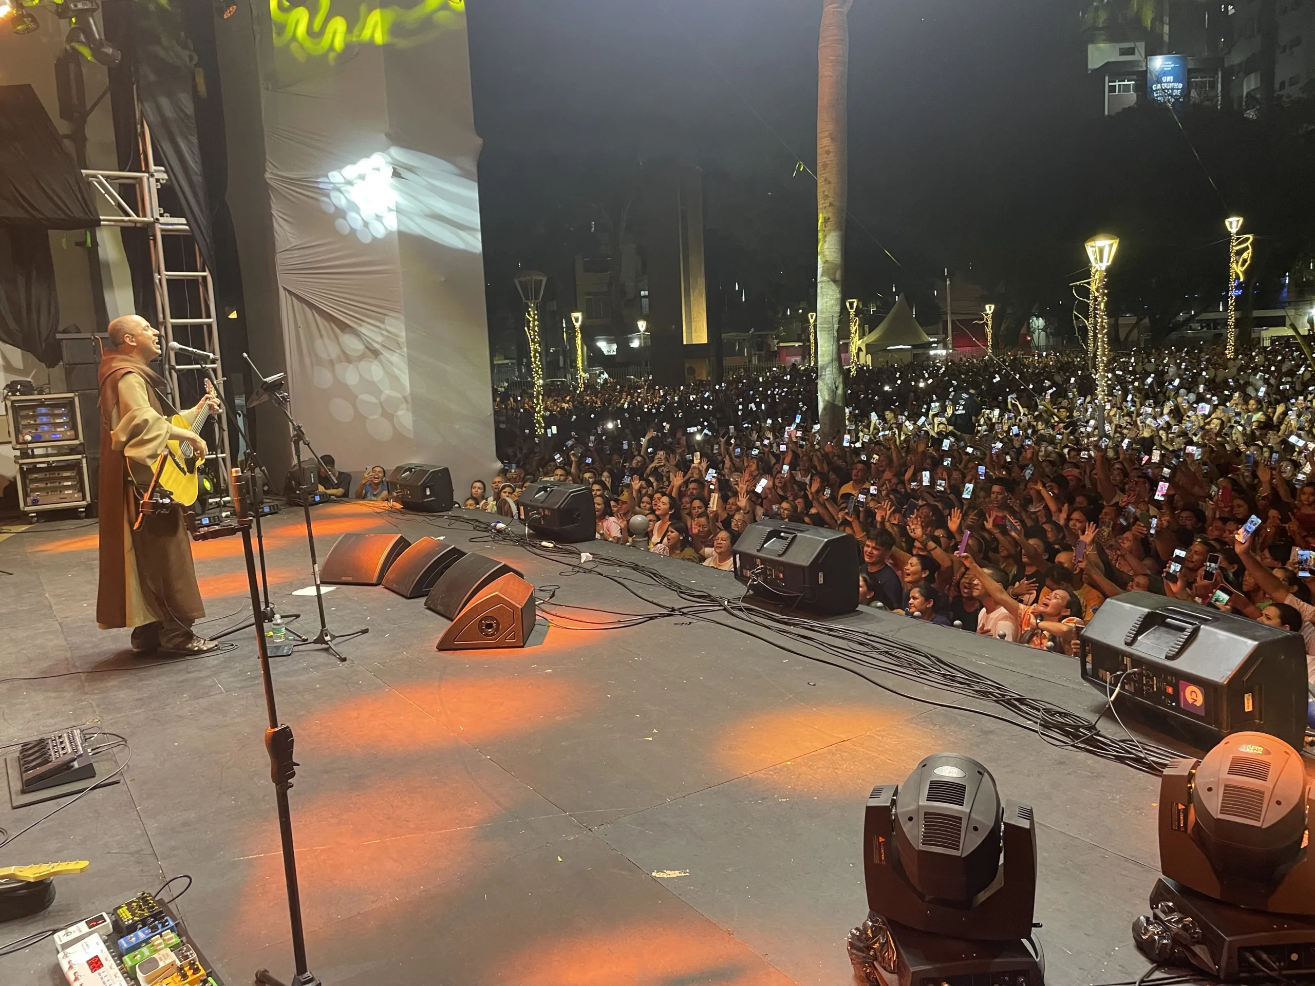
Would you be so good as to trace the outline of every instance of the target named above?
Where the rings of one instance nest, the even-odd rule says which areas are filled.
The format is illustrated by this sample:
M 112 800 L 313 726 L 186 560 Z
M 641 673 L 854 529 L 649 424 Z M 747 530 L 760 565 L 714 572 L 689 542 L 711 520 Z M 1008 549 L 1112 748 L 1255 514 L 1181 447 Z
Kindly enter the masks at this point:
M 1032 937 L 1032 809 L 1001 803 L 995 778 L 976 760 L 936 753 L 902 786 L 872 790 L 863 878 L 869 914 L 848 940 L 859 982 L 1044 982 L 1045 958 Z

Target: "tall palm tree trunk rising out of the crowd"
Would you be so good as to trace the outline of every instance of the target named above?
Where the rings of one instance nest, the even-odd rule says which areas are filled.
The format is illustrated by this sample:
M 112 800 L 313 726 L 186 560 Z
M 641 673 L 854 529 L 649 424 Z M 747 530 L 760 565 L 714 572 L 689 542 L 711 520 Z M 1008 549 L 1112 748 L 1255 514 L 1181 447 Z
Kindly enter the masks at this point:
M 818 39 L 818 422 L 828 439 L 844 431 L 840 316 L 849 197 L 847 89 L 852 3 L 823 0 Z

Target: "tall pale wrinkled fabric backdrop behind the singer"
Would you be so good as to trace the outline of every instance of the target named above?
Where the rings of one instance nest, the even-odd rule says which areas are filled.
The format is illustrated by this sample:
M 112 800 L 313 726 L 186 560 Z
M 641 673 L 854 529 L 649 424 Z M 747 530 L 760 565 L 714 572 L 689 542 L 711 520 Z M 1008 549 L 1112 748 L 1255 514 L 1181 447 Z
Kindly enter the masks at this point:
M 435 463 L 460 500 L 497 464 L 464 14 L 422 45 L 260 62 L 293 414 L 358 479 Z

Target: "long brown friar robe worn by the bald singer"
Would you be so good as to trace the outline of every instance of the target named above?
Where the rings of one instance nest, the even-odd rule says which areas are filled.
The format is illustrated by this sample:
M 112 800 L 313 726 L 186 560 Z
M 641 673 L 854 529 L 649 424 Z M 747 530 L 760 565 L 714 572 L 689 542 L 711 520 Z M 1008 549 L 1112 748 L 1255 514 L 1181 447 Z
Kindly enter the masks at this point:
M 100 387 L 100 590 L 101 630 L 163 622 L 180 631 L 205 615 L 196 586 L 183 509 L 149 514 L 133 530 L 141 494 L 168 440 L 154 388 L 166 388 L 134 356 L 107 351 Z

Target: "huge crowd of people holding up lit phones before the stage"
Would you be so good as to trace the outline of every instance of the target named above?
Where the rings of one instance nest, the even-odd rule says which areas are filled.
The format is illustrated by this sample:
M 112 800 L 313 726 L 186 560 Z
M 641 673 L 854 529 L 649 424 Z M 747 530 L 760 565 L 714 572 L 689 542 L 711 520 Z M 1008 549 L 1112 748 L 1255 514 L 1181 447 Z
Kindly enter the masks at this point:
M 1311 365 L 1276 343 L 1110 373 L 1098 408 L 1081 355 L 859 368 L 838 440 L 801 365 L 551 394 L 539 443 L 501 393 L 504 469 L 466 506 L 514 515 L 527 481 L 583 482 L 600 538 L 717 568 L 763 518 L 849 531 L 864 603 L 1061 652 L 1111 596 L 1195 599 L 1301 632 L 1315 681 Z

